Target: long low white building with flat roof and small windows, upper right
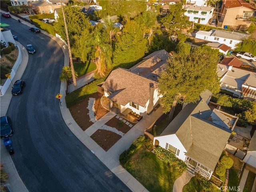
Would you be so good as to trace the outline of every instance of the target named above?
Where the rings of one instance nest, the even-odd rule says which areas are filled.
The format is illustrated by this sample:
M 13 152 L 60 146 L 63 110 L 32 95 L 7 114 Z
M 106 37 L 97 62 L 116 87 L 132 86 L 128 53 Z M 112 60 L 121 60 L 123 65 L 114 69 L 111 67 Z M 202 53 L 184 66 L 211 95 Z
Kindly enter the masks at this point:
M 236 48 L 236 44 L 242 42 L 244 38 L 248 38 L 249 34 L 239 33 L 239 32 L 230 32 L 225 30 L 215 30 L 202 31 L 199 30 L 196 33 L 196 38 L 218 42 L 230 46 L 232 49 Z

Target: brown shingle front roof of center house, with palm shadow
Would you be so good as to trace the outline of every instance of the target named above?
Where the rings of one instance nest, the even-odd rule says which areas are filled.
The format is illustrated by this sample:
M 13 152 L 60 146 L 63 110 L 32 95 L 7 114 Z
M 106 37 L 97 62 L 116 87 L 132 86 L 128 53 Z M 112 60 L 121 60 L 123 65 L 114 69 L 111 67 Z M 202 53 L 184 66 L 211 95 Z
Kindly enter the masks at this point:
M 132 101 L 145 106 L 150 98 L 150 84 L 156 87 L 156 82 L 134 74 L 123 68 L 113 70 L 108 78 L 103 82 L 102 88 L 110 90 L 111 100 L 121 105 L 126 105 Z

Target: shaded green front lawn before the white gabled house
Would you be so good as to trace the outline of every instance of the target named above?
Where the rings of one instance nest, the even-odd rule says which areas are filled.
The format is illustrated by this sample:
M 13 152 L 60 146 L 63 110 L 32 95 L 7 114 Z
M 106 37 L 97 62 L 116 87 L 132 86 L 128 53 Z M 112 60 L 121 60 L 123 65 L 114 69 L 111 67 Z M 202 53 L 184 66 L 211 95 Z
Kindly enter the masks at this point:
M 150 192 L 172 192 L 174 181 L 182 174 L 144 146 L 126 162 L 124 168 Z

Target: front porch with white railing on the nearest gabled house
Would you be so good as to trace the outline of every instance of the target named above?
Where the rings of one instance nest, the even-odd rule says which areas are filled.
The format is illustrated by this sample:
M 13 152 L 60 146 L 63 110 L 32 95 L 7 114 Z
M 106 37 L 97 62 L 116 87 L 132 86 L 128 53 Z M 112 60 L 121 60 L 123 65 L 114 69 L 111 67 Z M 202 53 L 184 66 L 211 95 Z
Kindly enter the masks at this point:
M 186 156 L 185 163 L 188 165 L 187 171 L 190 172 L 192 175 L 195 175 L 196 172 L 198 172 L 208 179 L 211 178 L 213 171 L 206 166 L 200 164 L 199 162 L 196 162 L 188 156 Z

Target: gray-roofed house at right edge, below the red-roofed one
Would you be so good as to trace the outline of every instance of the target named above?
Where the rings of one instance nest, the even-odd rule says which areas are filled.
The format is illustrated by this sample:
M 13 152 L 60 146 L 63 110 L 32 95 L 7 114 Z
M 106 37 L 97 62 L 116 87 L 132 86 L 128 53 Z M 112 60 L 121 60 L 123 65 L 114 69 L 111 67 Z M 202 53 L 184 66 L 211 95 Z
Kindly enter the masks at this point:
M 217 73 L 221 89 L 248 100 L 256 100 L 256 73 L 224 64 L 218 64 Z

